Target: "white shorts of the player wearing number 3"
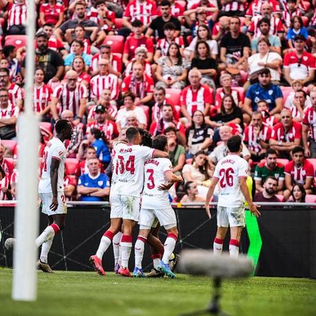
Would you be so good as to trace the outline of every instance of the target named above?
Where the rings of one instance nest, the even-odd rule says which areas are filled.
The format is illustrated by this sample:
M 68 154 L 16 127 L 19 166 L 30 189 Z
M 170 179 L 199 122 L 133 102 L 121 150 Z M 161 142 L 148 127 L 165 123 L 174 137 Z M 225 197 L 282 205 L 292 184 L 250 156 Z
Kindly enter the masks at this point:
M 153 223 L 155 223 L 156 218 L 160 225 L 166 229 L 177 226 L 176 214 L 174 214 L 174 210 L 170 206 L 163 210 L 148 210 L 142 208 L 139 214 L 139 227 L 141 227 L 141 229 L 142 227 L 144 227 L 144 229 L 150 229 L 153 226 Z

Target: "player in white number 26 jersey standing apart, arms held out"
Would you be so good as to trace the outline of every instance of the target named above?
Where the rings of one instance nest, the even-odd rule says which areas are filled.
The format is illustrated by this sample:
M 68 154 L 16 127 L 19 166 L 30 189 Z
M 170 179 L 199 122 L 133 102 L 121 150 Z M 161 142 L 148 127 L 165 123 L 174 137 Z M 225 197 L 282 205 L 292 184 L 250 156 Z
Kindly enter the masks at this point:
M 245 227 L 245 200 L 250 212 L 256 217 L 260 216 L 257 205 L 253 204 L 246 180 L 248 176 L 248 163 L 240 157 L 242 141 L 239 135 L 232 136 L 227 141 L 229 155 L 218 161 L 212 183 L 207 192 L 205 209 L 210 214 L 210 199 L 217 183 L 219 194 L 217 203 L 217 232 L 214 239 L 214 255 L 221 254 L 223 242 L 230 226 L 230 256 L 236 258 L 239 253 L 239 244 L 242 228 Z

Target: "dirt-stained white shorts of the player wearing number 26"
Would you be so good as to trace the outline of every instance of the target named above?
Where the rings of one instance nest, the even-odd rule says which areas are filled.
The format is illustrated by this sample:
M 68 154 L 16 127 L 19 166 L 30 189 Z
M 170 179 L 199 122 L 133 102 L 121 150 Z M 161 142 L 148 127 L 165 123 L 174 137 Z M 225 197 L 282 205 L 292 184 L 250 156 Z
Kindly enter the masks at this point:
M 245 207 L 217 207 L 218 227 L 245 227 Z

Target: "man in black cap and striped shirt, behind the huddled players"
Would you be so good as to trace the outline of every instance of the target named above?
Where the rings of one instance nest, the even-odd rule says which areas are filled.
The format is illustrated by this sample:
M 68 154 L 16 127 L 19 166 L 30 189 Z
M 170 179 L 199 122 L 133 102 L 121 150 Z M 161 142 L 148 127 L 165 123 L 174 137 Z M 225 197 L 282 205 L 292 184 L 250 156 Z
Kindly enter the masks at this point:
M 106 136 L 106 139 L 109 140 L 110 144 L 113 142 L 113 139 L 117 138 L 119 132 L 117 131 L 117 125 L 115 122 L 107 120 L 107 110 L 105 106 L 98 104 L 95 106 L 94 117 L 95 122 L 91 122 L 87 125 L 87 133 L 91 128 L 98 128 Z

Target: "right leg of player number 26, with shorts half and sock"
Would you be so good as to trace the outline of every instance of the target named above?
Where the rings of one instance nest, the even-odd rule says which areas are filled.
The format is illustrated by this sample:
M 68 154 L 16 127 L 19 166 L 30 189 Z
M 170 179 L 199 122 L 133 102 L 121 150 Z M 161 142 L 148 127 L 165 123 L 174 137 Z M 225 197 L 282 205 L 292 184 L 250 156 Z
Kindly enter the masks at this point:
M 242 228 L 245 227 L 245 207 L 229 208 L 230 241 L 229 254 L 238 258 Z

